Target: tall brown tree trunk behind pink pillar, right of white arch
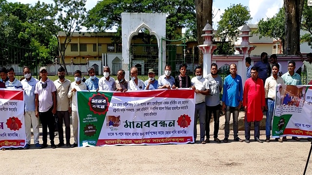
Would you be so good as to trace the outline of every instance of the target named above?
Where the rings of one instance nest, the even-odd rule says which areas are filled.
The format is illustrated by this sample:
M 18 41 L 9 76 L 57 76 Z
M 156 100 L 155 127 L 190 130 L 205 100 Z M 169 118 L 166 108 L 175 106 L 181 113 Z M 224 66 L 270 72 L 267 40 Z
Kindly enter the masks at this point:
M 195 0 L 196 6 L 196 20 L 197 20 L 197 42 L 198 44 L 204 43 L 204 38 L 201 37 L 202 30 L 207 24 L 207 20 L 210 25 L 213 21 L 213 0 Z M 200 49 L 198 49 L 198 63 L 202 65 L 203 56 Z

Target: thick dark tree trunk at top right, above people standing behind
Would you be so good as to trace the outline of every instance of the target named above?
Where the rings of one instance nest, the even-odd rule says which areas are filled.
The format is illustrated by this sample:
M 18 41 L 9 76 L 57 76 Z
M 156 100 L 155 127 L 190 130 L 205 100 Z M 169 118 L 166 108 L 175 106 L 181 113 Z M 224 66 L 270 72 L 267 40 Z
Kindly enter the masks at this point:
M 305 0 L 284 0 L 285 9 L 285 51 L 284 54 L 300 52 L 300 24 Z

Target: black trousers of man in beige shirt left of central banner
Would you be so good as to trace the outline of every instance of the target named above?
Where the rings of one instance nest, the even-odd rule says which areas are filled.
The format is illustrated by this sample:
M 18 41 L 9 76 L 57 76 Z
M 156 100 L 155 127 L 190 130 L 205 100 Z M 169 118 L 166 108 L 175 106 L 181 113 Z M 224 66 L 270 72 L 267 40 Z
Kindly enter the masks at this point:
M 68 111 L 57 111 L 58 128 L 59 128 L 59 142 L 64 142 L 63 120 L 65 123 L 65 137 L 66 143 L 70 142 L 70 117 Z

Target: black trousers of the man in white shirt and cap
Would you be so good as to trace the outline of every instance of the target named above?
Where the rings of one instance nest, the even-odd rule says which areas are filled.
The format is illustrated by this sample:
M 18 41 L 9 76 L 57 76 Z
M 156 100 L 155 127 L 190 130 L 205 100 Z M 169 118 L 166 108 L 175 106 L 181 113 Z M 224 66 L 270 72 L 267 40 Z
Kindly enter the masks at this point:
M 52 113 L 53 106 L 46 112 L 39 112 L 39 119 L 42 124 L 42 141 L 43 144 L 47 144 L 48 142 L 48 128 L 49 128 L 49 136 L 50 143 L 54 144 L 54 123 L 55 119 Z

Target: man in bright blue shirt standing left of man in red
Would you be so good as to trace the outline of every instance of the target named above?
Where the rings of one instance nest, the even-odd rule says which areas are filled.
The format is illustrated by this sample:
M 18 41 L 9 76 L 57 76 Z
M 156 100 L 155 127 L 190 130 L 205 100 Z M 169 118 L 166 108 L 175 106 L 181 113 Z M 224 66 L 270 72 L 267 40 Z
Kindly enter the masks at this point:
M 238 137 L 238 114 L 243 101 L 243 84 L 241 76 L 236 74 L 236 65 L 230 65 L 231 74 L 225 77 L 223 83 L 222 110 L 225 111 L 225 138 L 223 142 L 227 143 L 230 134 L 230 117 L 233 113 L 233 132 L 234 140 L 242 142 Z

